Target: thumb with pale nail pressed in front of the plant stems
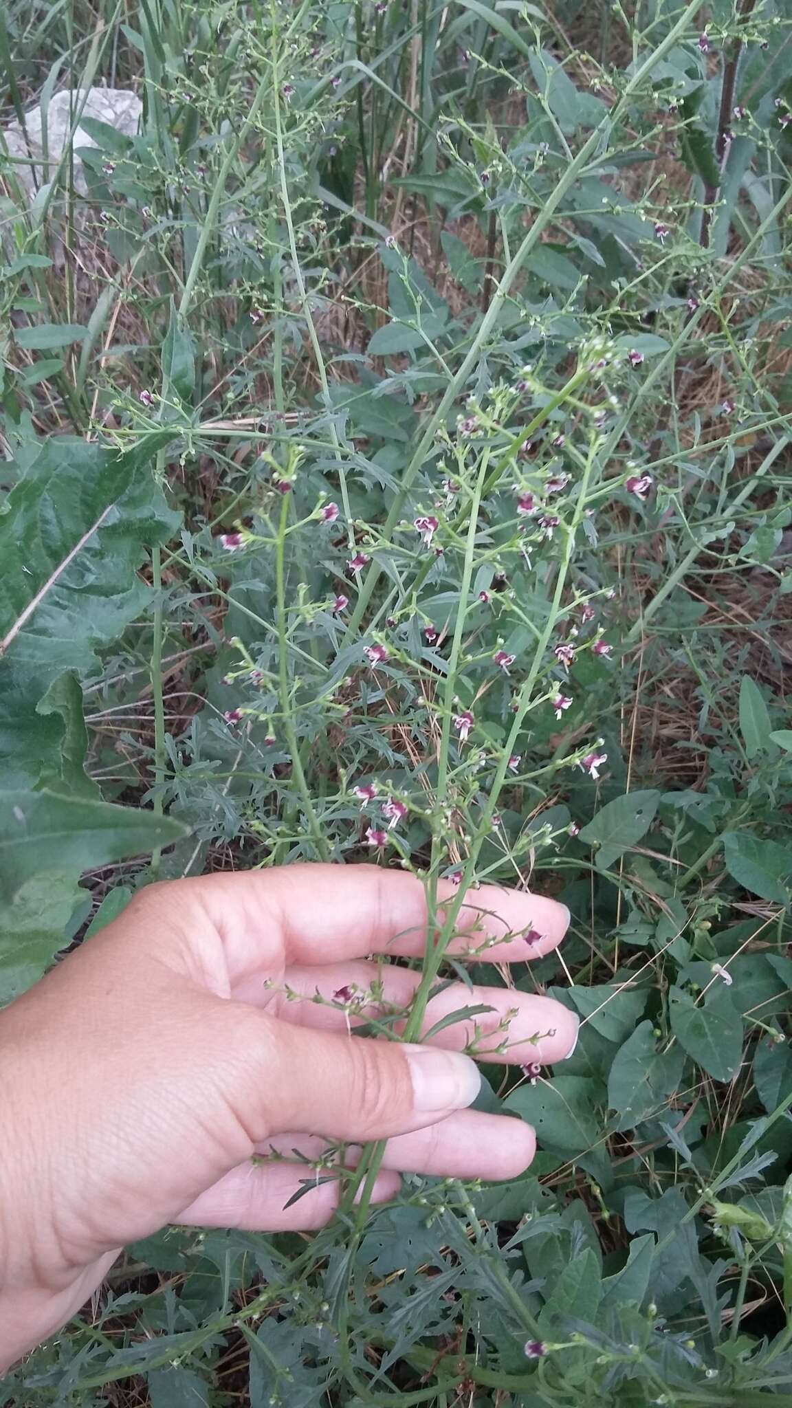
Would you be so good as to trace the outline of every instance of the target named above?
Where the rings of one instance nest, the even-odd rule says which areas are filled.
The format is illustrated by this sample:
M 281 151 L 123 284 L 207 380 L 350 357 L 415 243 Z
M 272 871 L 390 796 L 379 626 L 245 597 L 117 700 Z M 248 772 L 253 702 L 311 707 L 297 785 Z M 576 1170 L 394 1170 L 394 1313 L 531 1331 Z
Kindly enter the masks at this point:
M 255 1143 L 287 1129 L 355 1142 L 386 1139 L 437 1124 L 472 1105 L 479 1093 L 479 1069 L 459 1052 L 254 1015 L 261 1032 L 242 1118 Z

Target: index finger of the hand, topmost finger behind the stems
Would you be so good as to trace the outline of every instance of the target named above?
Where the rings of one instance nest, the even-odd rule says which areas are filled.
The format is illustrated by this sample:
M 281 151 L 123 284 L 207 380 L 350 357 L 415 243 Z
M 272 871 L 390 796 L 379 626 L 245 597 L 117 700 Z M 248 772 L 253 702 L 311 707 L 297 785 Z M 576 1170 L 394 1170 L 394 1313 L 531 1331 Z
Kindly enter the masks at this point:
M 296 865 L 185 881 L 220 932 L 231 981 L 262 966 L 334 963 L 383 953 L 420 957 L 427 946 L 427 901 L 416 876 L 379 866 Z M 454 881 L 438 881 L 434 932 L 443 926 Z M 448 955 L 526 962 L 551 952 L 569 924 L 565 905 L 500 886 L 469 890 Z

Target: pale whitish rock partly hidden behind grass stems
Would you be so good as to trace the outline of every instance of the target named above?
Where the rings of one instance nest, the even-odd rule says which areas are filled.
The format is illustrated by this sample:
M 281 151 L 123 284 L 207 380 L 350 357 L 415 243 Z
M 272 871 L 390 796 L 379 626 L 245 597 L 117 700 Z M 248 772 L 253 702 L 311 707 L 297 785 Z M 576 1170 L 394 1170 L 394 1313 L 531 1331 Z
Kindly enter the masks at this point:
M 75 114 L 79 111 L 85 117 L 96 117 L 100 122 L 107 122 L 109 127 L 114 127 L 117 132 L 124 132 L 127 137 L 134 137 L 138 130 L 140 117 L 142 113 L 142 103 L 137 93 L 130 89 L 101 89 L 92 87 L 87 90 L 87 97 L 85 100 L 85 107 L 82 100 L 85 97 L 85 89 L 63 89 L 62 93 L 54 93 L 49 100 L 49 107 L 47 110 L 47 135 L 48 135 L 48 172 L 45 173 L 42 166 L 35 166 L 35 184 L 41 186 L 45 180 L 51 180 L 55 173 L 55 168 L 61 161 L 61 155 L 66 145 L 66 139 L 72 130 L 72 122 Z M 25 131 L 28 141 L 23 135 L 23 130 L 18 122 L 11 122 L 6 131 L 6 142 L 8 145 L 8 152 L 11 156 L 23 158 L 24 163 L 14 162 L 14 172 L 21 186 L 30 193 L 34 191 L 34 168 L 30 166 L 28 158 L 28 144 L 30 152 L 34 158 L 44 155 L 42 144 L 42 128 L 44 117 L 41 107 L 34 107 L 25 114 Z M 72 148 L 79 149 L 80 146 L 96 146 L 97 144 L 92 137 L 87 135 L 80 127 L 75 131 L 72 139 Z M 85 180 L 82 176 L 82 162 L 75 158 L 75 186 L 78 190 L 85 191 Z

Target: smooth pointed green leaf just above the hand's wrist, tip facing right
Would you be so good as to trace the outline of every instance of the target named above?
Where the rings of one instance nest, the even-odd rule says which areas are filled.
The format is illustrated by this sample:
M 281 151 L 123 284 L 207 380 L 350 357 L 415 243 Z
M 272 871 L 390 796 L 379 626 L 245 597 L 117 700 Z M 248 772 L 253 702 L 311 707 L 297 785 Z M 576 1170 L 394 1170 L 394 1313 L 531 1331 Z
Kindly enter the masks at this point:
M 144 855 L 189 836 L 189 826 L 93 797 L 0 791 L 0 897 L 11 903 L 42 862 L 63 874 Z

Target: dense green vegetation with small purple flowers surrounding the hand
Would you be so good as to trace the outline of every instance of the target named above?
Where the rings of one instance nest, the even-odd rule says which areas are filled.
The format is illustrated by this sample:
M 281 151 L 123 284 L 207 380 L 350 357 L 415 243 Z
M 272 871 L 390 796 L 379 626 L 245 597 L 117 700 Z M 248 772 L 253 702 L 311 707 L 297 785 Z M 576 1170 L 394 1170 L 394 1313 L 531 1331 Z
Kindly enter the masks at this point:
M 10 0 L 6 127 L 142 115 L 0 145 L 0 1001 L 373 857 L 583 1024 L 526 1178 L 165 1231 L 0 1404 L 792 1404 L 791 20 Z

